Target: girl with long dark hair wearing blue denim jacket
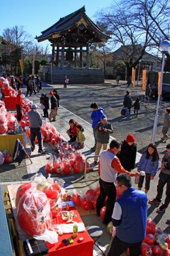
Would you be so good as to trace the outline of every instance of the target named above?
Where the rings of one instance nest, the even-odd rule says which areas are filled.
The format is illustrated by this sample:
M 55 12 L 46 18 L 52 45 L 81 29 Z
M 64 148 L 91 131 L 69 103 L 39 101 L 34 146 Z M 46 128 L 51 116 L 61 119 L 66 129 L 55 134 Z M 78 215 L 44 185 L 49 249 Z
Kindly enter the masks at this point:
M 143 181 L 145 179 L 145 193 L 147 193 L 150 189 L 150 181 L 154 180 L 156 172 L 158 172 L 159 166 L 159 155 L 156 148 L 156 144 L 150 143 L 145 151 L 145 153 L 141 156 L 138 165 L 138 171 L 145 171 L 145 176 L 139 177 L 138 189 L 142 189 Z

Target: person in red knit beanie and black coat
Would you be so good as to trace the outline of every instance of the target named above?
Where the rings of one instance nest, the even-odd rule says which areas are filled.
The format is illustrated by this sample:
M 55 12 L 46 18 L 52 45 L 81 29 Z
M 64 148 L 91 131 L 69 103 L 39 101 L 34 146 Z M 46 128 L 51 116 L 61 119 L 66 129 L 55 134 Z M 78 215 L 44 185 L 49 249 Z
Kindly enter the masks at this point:
M 125 170 L 130 172 L 134 169 L 136 155 L 137 144 L 135 144 L 135 137 L 133 134 L 128 134 L 126 139 L 121 144 L 121 151 L 117 155 Z

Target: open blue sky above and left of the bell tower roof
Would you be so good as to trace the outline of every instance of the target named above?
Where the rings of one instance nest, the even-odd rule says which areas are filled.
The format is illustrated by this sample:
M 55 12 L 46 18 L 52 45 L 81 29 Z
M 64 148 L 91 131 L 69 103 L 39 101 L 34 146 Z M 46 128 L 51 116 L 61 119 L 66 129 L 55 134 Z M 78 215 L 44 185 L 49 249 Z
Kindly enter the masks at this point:
M 94 19 L 100 9 L 109 5 L 113 0 L 6 0 L 1 1 L 0 35 L 7 27 L 24 26 L 24 30 L 33 37 L 41 35 L 41 31 L 52 26 L 57 20 L 83 5 L 86 14 Z M 45 41 L 44 44 L 48 43 Z

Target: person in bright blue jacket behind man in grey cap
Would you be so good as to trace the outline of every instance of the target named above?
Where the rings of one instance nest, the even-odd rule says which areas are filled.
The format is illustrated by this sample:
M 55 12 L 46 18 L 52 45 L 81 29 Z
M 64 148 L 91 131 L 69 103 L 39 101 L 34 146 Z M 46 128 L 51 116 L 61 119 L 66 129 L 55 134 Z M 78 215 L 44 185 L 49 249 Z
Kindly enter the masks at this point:
M 95 127 L 98 122 L 100 122 L 101 115 L 103 115 L 103 108 L 99 108 L 99 106 L 96 103 L 92 103 L 90 108 L 93 110 L 91 113 L 91 119 L 92 119 L 92 129 L 94 131 L 94 138 L 95 138 L 95 146 L 91 148 L 91 150 L 96 150 L 96 135 L 95 135 Z

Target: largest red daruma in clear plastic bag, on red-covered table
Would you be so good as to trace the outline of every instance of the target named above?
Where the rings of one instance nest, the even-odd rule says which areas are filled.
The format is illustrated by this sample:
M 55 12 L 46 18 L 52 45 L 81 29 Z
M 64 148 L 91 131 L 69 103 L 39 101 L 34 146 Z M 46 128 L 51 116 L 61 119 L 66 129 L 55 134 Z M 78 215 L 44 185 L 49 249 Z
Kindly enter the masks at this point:
M 44 192 L 28 189 L 19 200 L 17 218 L 28 234 L 42 234 L 52 226 L 50 204 Z

